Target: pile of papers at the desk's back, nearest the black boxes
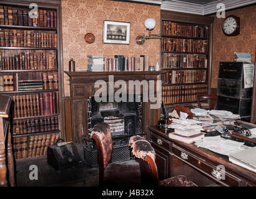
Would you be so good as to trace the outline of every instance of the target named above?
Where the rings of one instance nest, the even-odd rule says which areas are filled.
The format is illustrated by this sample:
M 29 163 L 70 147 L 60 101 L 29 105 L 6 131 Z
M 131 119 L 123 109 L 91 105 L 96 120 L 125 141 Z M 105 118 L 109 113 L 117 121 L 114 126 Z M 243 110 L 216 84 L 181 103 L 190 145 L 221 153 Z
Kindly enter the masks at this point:
M 190 109 L 194 114 L 194 119 L 202 124 L 204 131 L 212 132 L 216 131 L 215 127 L 232 125 L 235 123 L 235 119 L 240 119 L 239 114 L 233 114 L 230 111 L 222 110 L 205 110 L 205 109 Z

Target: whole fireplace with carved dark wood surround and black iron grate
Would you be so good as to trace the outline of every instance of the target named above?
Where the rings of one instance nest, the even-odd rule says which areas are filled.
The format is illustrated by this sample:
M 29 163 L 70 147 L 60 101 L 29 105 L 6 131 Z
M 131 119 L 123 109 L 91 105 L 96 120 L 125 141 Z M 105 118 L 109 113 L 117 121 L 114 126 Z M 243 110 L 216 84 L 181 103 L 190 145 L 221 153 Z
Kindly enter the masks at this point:
M 147 126 L 156 124 L 159 119 L 159 109 L 150 109 L 150 101 L 142 102 L 142 96 L 135 90 L 129 92 L 127 99 L 134 97 L 134 102 L 97 103 L 94 98 L 97 88 L 96 81 L 104 80 L 109 85 L 109 76 L 114 82 L 159 80 L 162 72 L 65 72 L 70 78 L 71 96 L 64 98 L 65 137 L 76 146 L 83 145 L 86 162 L 97 165 L 96 144 L 91 139 L 92 127 L 100 122 L 109 123 L 112 132 L 112 161 L 130 159 L 128 146 L 130 136 L 145 135 Z M 119 88 L 114 88 L 117 91 Z M 133 94 L 132 94 L 133 93 Z M 140 93 L 144 93 L 142 86 Z M 109 95 L 107 91 L 107 96 Z M 141 100 L 140 100 L 141 99 Z M 70 116 L 70 117 L 69 117 Z

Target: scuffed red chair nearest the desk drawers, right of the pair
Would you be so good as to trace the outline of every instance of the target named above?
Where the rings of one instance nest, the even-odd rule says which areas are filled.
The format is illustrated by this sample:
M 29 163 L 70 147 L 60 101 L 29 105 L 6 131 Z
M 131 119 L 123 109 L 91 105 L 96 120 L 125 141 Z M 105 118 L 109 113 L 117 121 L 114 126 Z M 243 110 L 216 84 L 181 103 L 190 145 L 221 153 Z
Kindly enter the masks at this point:
M 194 182 L 184 175 L 165 180 L 158 180 L 157 165 L 155 164 L 155 150 L 149 141 L 140 136 L 130 137 L 129 146 L 132 154 L 140 159 L 140 174 L 142 186 L 145 187 L 197 187 Z

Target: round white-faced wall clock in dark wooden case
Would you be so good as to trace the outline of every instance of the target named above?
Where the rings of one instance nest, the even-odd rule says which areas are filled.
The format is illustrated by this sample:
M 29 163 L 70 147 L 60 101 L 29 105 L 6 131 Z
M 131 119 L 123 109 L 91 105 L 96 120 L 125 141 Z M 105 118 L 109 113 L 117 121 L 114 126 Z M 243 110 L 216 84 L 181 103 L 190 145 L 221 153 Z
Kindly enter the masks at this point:
M 234 15 L 227 16 L 222 23 L 222 31 L 226 36 L 240 34 L 240 18 Z

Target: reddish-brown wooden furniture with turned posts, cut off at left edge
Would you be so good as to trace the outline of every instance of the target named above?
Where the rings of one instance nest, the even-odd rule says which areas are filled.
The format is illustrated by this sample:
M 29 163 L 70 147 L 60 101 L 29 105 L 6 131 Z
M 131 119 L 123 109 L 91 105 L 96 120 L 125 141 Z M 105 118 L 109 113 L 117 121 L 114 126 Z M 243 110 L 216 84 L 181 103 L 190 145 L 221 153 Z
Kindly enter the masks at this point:
M 11 102 L 11 96 L 0 95 L 0 186 L 14 187 L 14 157 L 9 125 Z

